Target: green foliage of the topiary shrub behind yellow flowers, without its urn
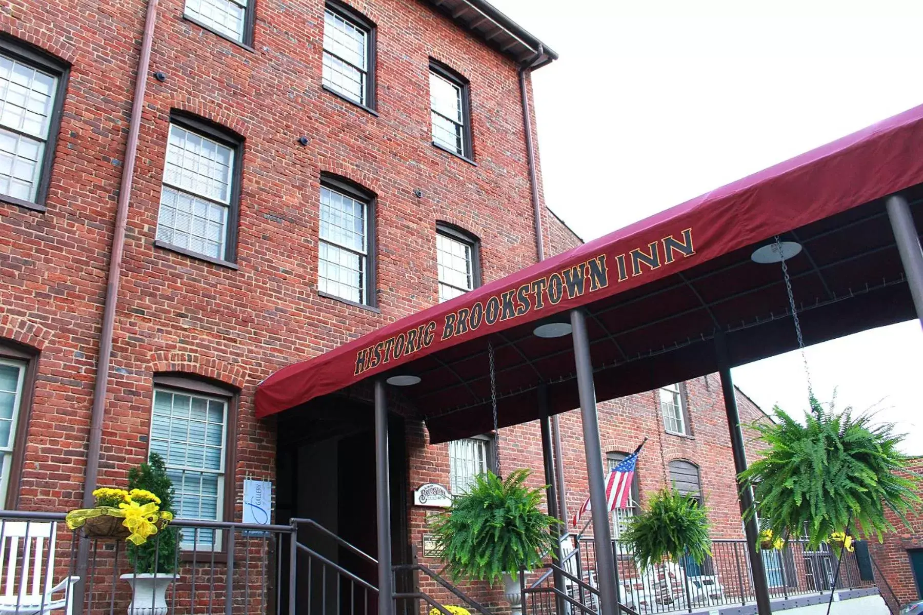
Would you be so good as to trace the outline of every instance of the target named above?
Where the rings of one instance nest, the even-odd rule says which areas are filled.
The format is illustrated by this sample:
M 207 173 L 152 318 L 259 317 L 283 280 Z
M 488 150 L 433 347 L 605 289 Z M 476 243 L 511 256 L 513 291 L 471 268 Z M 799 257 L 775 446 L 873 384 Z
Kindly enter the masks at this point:
M 149 463 L 142 463 L 128 470 L 128 490 L 148 491 L 160 500 L 159 507 L 162 511 L 174 513 L 173 480 L 167 476 L 166 465 L 161 455 L 151 453 Z M 135 493 L 133 499 L 138 503 L 156 501 L 144 497 L 143 493 L 139 496 L 138 491 Z M 134 572 L 173 573 L 177 549 L 176 531 L 174 526 L 164 526 L 144 544 L 129 544 L 128 562 L 131 563 Z

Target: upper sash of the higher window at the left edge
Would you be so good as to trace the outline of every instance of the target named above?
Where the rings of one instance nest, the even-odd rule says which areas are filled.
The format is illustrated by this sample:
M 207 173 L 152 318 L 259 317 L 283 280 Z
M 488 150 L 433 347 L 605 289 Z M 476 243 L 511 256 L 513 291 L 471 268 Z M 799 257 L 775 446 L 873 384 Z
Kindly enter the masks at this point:
M 48 138 L 57 79 L 0 55 L 0 125 Z

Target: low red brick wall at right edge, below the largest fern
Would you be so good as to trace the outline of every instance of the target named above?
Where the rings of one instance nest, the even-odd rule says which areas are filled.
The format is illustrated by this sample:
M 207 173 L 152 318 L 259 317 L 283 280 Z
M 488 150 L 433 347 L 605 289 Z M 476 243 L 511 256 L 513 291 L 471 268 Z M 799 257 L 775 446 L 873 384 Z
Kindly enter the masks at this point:
M 923 457 L 914 459 L 909 469 L 917 477 L 923 474 Z M 920 485 L 918 493 L 923 495 L 923 485 Z M 923 509 L 917 506 L 915 513 L 907 515 L 909 526 L 890 511 L 887 516 L 895 530 L 885 534 L 882 542 L 869 540 L 869 554 L 872 562 L 877 564 L 877 567 L 872 567 L 875 584 L 891 612 L 896 613 L 906 603 L 923 598 L 917 590 L 917 579 L 907 552 L 923 550 Z

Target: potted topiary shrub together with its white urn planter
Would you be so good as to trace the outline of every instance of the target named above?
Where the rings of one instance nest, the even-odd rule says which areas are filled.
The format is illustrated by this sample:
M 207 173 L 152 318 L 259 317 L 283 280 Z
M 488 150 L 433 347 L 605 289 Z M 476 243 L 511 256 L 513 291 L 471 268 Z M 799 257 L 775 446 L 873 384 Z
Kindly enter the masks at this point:
M 128 489 L 132 507 L 137 506 L 142 514 L 156 506 L 161 514 L 173 518 L 173 481 L 167 476 L 161 455 L 151 453 L 150 463 L 142 463 L 128 471 Z M 150 520 L 149 516 L 142 523 Z M 178 546 L 176 528 L 161 526 L 154 533 L 156 536 L 150 535 L 147 540 L 128 545 L 128 562 L 134 572 L 120 577 L 132 588 L 128 615 L 166 615 L 167 587 L 179 578 L 174 574 Z

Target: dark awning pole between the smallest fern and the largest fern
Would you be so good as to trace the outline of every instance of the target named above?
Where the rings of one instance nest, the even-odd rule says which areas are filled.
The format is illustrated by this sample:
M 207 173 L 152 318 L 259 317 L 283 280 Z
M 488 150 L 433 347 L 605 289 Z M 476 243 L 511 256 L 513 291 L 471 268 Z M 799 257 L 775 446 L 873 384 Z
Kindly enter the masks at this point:
M 731 380 L 731 368 L 727 360 L 725 336 L 721 330 L 715 332 L 714 348 L 718 358 L 718 372 L 721 374 L 721 393 L 725 397 L 727 429 L 731 436 L 731 451 L 734 454 L 734 469 L 739 475 L 747 469 L 747 454 L 744 451 L 744 435 L 740 430 L 740 414 L 737 412 L 737 395 L 734 381 Z M 747 553 L 749 555 L 750 575 L 753 577 L 753 591 L 756 593 L 756 608 L 760 615 L 772 615 L 773 607 L 769 602 L 769 585 L 766 582 L 766 570 L 762 563 L 762 554 L 756 550 L 760 542 L 760 521 L 756 514 L 746 517 L 746 511 L 753 510 L 753 490 L 749 485 L 737 479 L 740 514 L 744 516 L 744 533 L 747 536 Z M 741 592 L 743 588 L 741 587 Z

